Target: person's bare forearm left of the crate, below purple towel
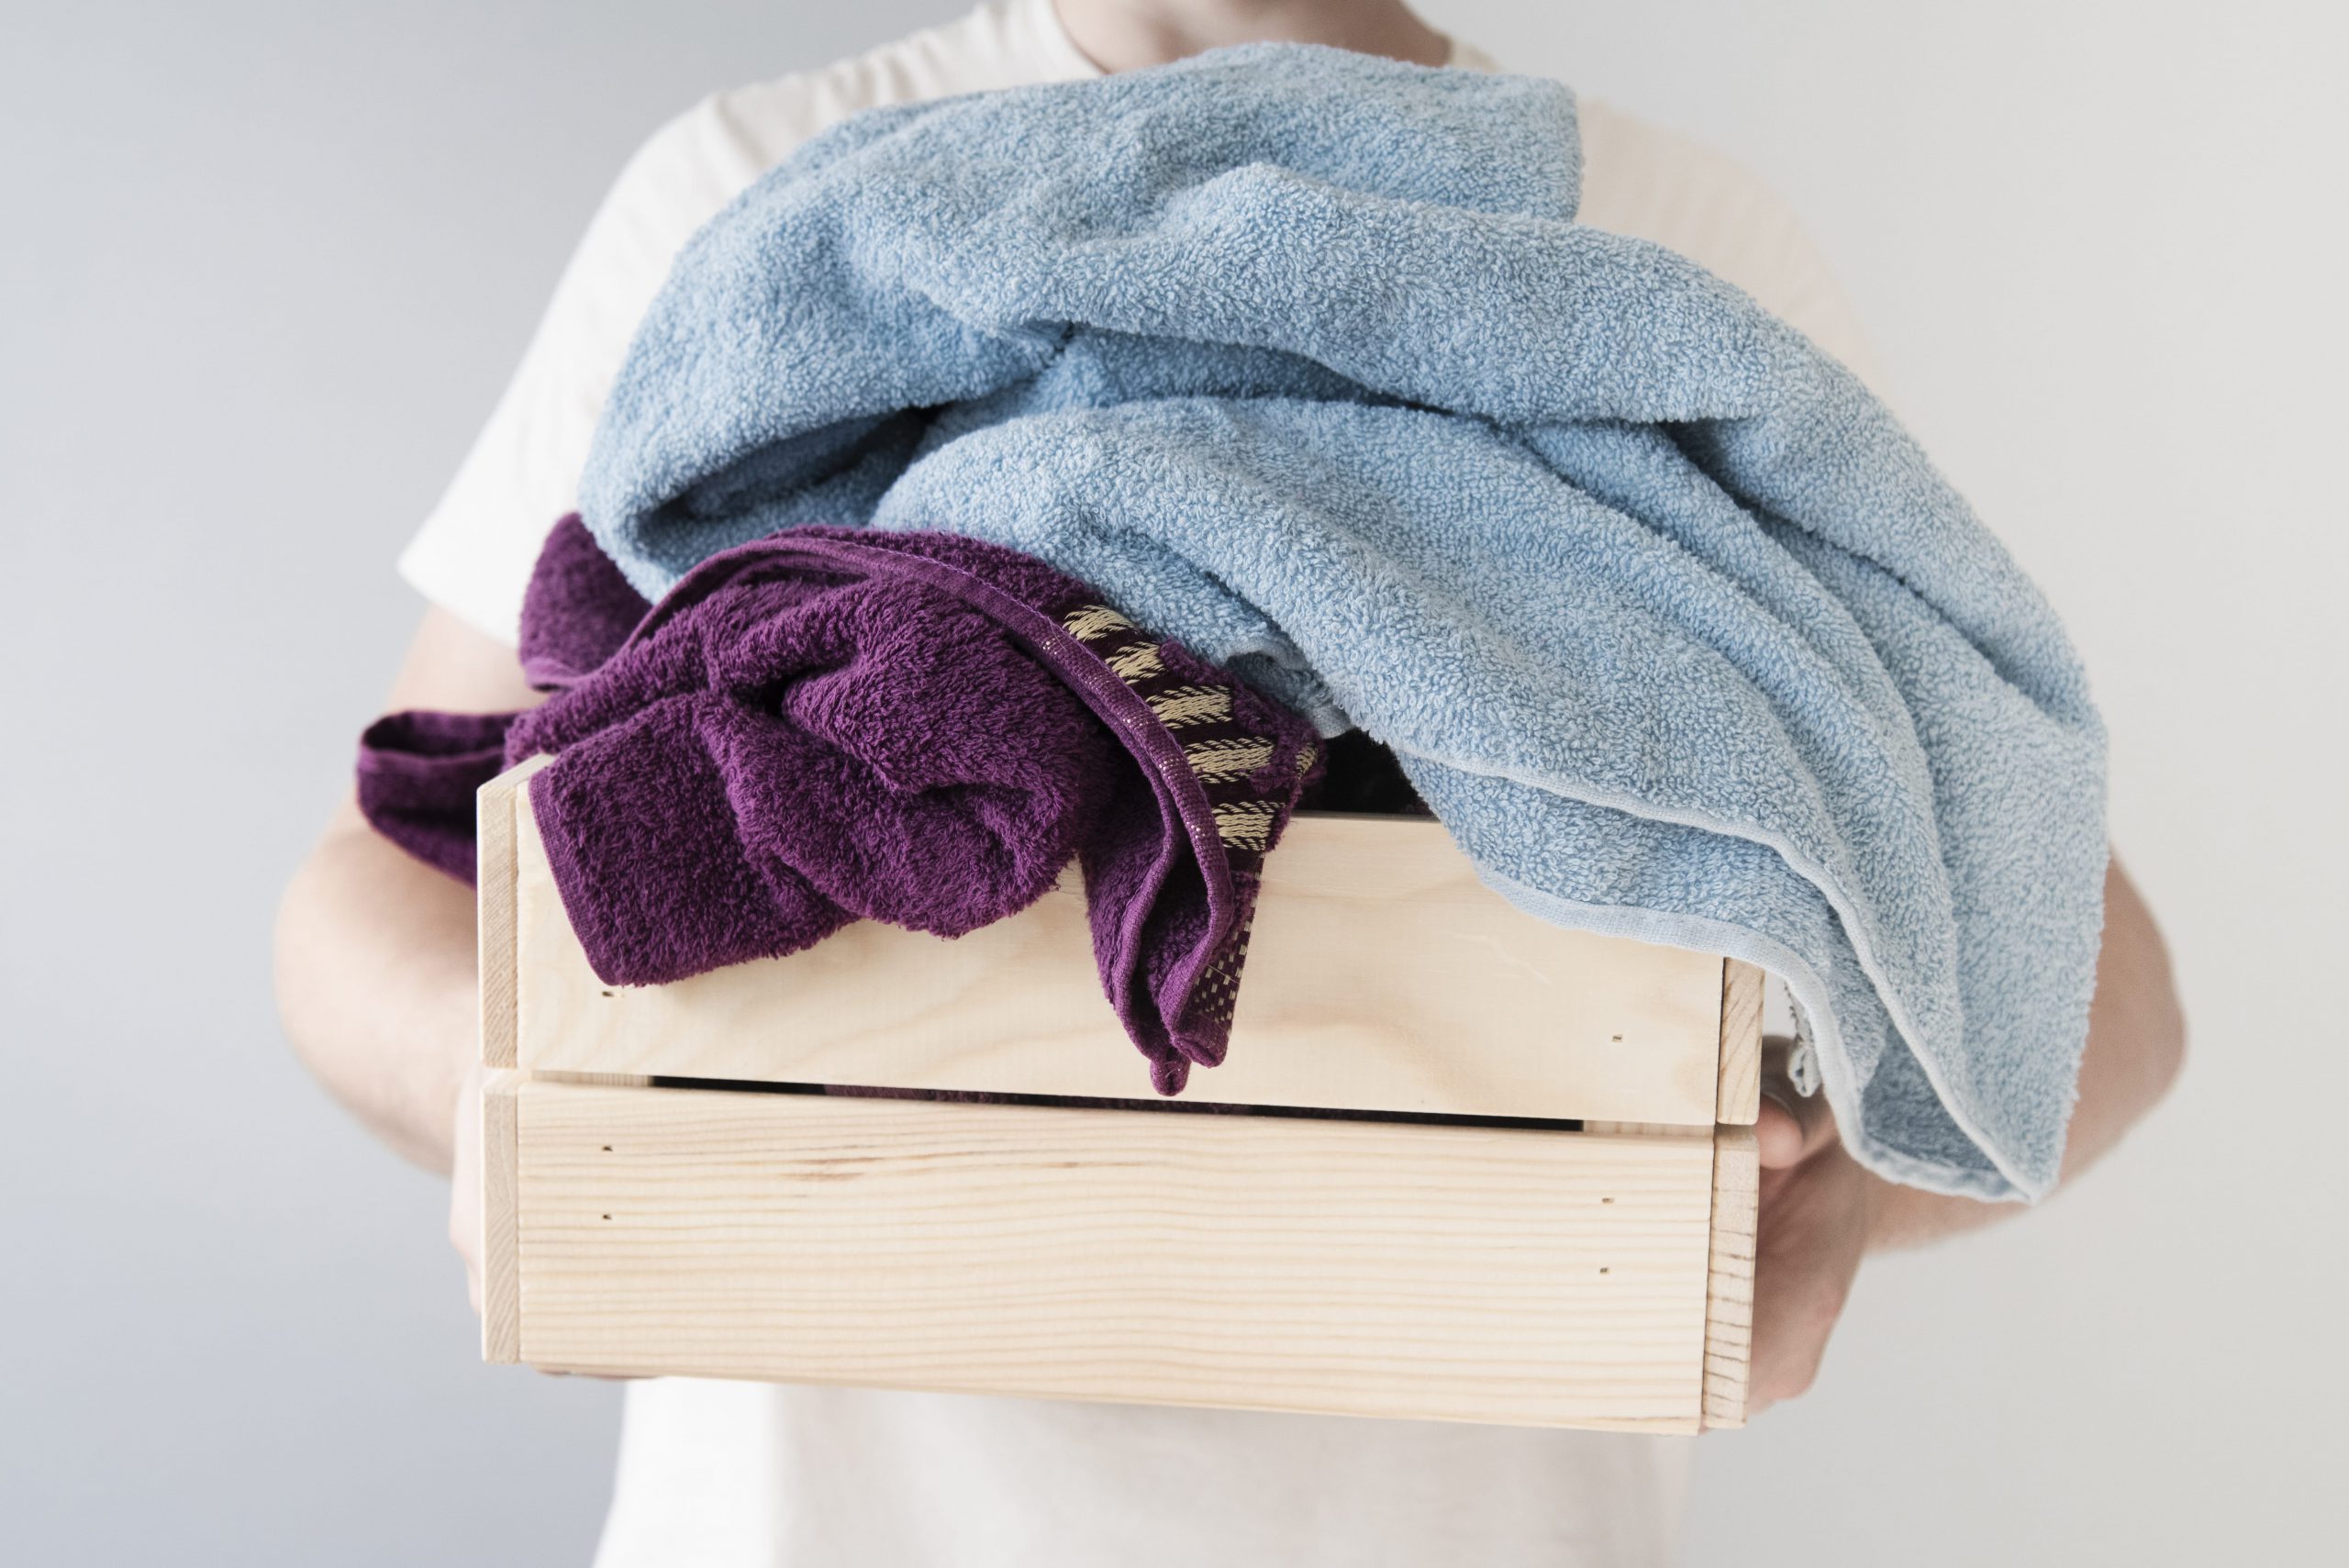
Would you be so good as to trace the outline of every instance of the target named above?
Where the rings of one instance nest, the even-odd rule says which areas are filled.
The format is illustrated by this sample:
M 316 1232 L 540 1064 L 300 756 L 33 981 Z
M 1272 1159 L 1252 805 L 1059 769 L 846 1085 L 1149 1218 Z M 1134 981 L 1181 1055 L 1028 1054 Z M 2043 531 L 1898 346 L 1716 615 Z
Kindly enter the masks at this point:
M 477 1040 L 470 887 L 345 800 L 277 911 L 277 1007 L 343 1106 L 416 1164 L 449 1169 Z

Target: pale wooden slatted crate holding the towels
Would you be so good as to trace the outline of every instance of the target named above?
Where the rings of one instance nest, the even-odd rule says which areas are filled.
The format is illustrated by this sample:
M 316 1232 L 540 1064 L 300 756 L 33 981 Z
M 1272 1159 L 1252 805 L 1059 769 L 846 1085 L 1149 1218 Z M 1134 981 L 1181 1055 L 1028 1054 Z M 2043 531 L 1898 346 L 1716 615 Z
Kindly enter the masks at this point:
M 604 986 L 529 772 L 482 791 L 491 1361 L 1743 1422 L 1759 969 L 1534 920 L 1433 822 L 1304 815 L 1231 1061 L 1102 1106 L 1151 1096 L 1073 876 L 958 941 Z

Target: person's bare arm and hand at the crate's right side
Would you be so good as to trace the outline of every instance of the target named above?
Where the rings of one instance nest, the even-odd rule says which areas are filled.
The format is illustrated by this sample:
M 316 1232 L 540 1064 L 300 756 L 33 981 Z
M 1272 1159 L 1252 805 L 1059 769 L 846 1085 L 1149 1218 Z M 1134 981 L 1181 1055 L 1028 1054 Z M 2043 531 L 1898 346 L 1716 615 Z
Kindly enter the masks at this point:
M 2152 911 L 2121 871 L 2105 873 L 2105 944 L 2088 1007 L 2079 1103 L 2062 1181 L 2095 1164 L 2178 1077 L 2185 1016 Z M 1844 1153 L 1825 1096 L 1762 1099 L 1762 1235 L 1748 1411 L 1811 1387 L 1828 1333 L 1867 1251 L 1917 1246 L 2022 1214 L 2022 1204 L 1921 1192 L 1870 1176 Z

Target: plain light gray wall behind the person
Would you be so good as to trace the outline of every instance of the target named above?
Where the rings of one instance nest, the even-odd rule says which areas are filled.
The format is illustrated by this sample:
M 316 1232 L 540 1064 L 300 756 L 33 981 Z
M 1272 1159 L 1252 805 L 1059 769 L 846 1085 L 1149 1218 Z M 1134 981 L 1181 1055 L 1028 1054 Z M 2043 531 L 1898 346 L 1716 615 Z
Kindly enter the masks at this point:
M 951 14 L 12 7 L 0 47 L 0 1556 L 578 1563 L 615 1397 L 472 1364 L 442 1188 L 268 995 L 432 505 L 622 157 Z M 2194 1019 L 2048 1211 L 1872 1263 L 1691 1561 L 2340 1545 L 2342 26 L 2309 5 L 1431 0 L 1736 150 L 2039 573 Z

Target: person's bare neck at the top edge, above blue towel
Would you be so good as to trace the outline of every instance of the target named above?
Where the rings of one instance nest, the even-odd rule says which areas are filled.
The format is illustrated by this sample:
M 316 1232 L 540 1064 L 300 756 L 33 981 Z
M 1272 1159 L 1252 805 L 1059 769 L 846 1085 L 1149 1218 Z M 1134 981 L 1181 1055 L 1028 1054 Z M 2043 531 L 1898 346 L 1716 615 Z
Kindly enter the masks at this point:
M 1419 66 L 1452 59 L 1449 40 L 1402 0 L 1052 0 L 1059 23 L 1102 70 L 1142 70 L 1224 45 L 1330 45 Z

